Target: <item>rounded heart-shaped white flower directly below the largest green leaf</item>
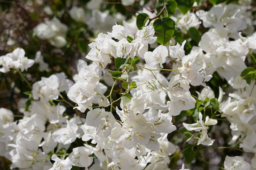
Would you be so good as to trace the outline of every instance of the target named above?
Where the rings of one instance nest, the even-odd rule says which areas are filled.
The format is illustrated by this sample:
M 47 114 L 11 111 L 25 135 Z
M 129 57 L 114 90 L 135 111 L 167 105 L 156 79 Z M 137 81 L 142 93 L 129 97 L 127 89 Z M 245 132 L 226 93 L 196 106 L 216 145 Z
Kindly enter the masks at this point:
M 163 68 L 164 67 L 163 64 L 165 63 L 167 56 L 168 56 L 168 50 L 166 46 L 159 45 L 157 46 L 157 48 L 154 49 L 153 52 L 147 51 L 144 54 L 144 59 L 146 64 L 148 64 L 152 68 L 154 68 L 155 66 L 159 68 L 159 64 L 160 64 L 160 68 Z

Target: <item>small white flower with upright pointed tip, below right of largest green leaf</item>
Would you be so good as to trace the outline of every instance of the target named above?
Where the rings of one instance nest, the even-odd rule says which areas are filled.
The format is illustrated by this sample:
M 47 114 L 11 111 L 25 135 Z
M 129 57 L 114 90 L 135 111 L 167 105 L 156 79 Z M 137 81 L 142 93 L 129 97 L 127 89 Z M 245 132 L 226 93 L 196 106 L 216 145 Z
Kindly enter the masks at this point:
M 169 46 L 170 56 L 173 58 L 176 58 L 177 61 L 182 60 L 182 58 L 185 56 L 185 51 L 184 51 L 185 44 L 186 44 L 186 40 L 182 42 L 181 46 L 179 43 L 177 43 L 175 46 Z

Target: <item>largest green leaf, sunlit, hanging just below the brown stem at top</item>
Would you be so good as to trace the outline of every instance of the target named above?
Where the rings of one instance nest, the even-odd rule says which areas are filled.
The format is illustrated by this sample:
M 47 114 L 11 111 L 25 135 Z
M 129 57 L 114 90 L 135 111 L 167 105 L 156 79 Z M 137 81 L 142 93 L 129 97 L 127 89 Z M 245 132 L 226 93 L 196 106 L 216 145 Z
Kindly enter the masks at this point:
M 175 22 L 168 17 L 157 19 L 154 22 L 155 36 L 157 36 L 157 42 L 166 45 L 167 42 L 173 38 L 175 29 Z

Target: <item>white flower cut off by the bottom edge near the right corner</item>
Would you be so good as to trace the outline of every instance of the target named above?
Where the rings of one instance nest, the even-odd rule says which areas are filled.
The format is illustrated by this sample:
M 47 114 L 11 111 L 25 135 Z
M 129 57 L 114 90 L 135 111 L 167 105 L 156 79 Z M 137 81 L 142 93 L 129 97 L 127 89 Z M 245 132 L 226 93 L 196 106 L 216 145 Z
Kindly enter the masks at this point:
M 250 164 L 243 157 L 226 156 L 224 161 L 225 170 L 250 170 Z

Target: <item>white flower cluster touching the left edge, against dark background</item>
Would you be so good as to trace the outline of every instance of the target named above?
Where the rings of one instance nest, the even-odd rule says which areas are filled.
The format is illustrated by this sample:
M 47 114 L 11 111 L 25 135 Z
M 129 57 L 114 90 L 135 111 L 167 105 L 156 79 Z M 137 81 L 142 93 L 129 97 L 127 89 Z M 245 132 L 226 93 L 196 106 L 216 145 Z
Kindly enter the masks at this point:
M 21 48 L 13 50 L 12 53 L 0 56 L 0 72 L 6 73 L 10 68 L 17 68 L 20 71 L 27 70 L 34 64 L 34 60 L 25 57 L 25 51 Z

